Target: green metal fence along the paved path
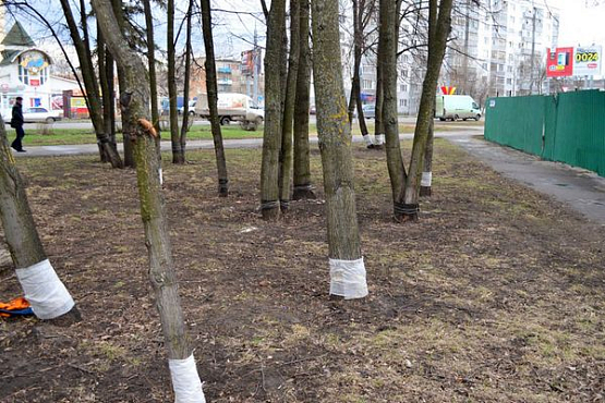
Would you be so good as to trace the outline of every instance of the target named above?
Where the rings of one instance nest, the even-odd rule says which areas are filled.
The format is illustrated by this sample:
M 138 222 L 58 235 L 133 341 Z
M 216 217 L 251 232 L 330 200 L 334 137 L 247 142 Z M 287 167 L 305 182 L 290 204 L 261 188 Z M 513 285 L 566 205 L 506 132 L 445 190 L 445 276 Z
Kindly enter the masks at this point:
M 605 93 L 489 98 L 485 138 L 605 176 Z

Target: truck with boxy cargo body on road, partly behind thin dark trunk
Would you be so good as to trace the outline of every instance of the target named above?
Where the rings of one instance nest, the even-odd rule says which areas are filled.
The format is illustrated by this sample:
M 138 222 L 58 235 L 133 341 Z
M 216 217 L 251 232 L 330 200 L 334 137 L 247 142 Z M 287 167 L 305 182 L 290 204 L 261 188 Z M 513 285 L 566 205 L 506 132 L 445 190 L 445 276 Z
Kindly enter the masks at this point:
M 243 129 L 255 131 L 265 119 L 263 109 L 255 106 L 252 98 L 244 94 L 220 93 L 217 107 L 221 125 L 240 122 Z M 206 94 L 197 96 L 195 114 L 203 119 L 210 119 L 208 96 Z

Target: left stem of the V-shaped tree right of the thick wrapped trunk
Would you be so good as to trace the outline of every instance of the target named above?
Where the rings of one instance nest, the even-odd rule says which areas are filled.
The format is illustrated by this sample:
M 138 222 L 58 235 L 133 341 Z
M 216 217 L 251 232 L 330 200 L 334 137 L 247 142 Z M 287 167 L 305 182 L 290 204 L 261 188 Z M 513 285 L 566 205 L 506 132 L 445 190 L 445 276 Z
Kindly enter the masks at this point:
M 378 65 L 382 77 L 382 124 L 386 135 L 387 167 L 397 206 L 397 195 L 406 182 L 406 168 L 399 142 L 397 119 L 397 7 L 391 0 L 380 0 Z

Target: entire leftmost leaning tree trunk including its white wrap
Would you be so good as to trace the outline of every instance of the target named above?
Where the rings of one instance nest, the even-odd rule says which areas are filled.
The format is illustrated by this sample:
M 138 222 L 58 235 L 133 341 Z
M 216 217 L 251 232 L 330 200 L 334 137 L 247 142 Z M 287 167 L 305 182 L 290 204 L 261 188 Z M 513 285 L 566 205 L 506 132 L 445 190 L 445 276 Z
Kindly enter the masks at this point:
M 80 320 L 75 304 L 50 266 L 0 118 L 0 220 L 16 277 L 34 314 L 55 323 Z

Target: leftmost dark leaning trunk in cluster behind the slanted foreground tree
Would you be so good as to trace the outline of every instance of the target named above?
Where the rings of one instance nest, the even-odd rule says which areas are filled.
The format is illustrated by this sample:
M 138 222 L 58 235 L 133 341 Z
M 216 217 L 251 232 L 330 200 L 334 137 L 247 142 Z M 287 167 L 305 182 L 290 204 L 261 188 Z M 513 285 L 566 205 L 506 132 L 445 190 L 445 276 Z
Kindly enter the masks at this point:
M 122 159 L 120 158 L 120 155 L 112 149 L 109 143 L 109 136 L 105 132 L 105 126 L 102 124 L 98 82 L 93 68 L 92 57 L 88 54 L 89 52 L 86 51 L 86 45 L 80 37 L 80 32 L 77 30 L 77 25 L 75 24 L 69 0 L 60 0 L 60 2 L 61 8 L 63 9 L 63 14 L 65 15 L 68 28 L 70 29 L 70 36 L 77 53 L 77 60 L 80 61 L 82 80 L 84 81 L 84 87 L 86 88 L 86 106 L 88 107 L 90 120 L 93 121 L 93 126 L 95 127 L 99 152 L 105 154 L 111 163 L 111 167 L 122 168 Z

